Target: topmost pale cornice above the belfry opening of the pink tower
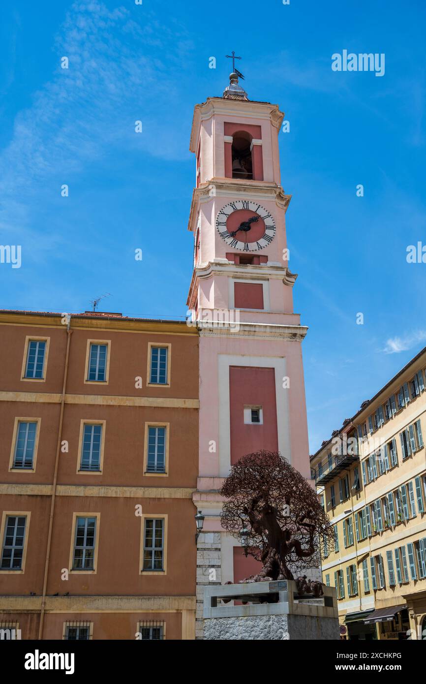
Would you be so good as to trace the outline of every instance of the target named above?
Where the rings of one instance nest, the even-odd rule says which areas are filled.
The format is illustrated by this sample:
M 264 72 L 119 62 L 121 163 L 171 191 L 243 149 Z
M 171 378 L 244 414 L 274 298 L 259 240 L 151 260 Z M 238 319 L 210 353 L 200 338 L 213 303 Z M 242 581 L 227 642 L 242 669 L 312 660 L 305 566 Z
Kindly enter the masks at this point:
M 196 153 L 197 151 L 200 122 L 211 118 L 213 114 L 266 119 L 270 120 L 276 129 L 280 128 L 282 119 L 284 118 L 284 112 L 280 111 L 280 107 L 278 107 L 278 105 L 273 105 L 270 102 L 227 100 L 223 97 L 208 97 L 205 102 L 194 107 L 191 139 L 189 141 L 189 150 L 191 150 L 191 152 Z

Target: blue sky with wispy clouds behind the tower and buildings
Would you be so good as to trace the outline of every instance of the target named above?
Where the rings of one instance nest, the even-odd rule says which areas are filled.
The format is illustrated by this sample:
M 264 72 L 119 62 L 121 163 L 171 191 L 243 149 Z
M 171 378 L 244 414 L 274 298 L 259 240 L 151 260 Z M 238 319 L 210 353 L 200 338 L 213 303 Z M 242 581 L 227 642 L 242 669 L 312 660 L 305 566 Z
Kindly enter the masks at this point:
M 222 94 L 235 49 L 249 98 L 290 121 L 282 185 L 317 449 L 426 344 L 426 264 L 406 261 L 426 244 L 423 0 L 3 5 L 0 243 L 22 246 L 22 266 L 0 264 L 0 308 L 79 312 L 111 293 L 100 308 L 185 316 L 192 111 Z M 384 53 L 384 76 L 333 72 L 343 49 Z

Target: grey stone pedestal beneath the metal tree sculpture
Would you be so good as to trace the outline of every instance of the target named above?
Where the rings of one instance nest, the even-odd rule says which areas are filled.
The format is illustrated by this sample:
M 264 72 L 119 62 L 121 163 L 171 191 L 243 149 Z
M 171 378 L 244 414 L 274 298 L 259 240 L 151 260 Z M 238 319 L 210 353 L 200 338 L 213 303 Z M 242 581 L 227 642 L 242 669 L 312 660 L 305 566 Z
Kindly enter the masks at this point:
M 299 596 L 291 580 L 207 586 L 204 639 L 338 640 L 336 589 L 323 592 L 319 599 Z

